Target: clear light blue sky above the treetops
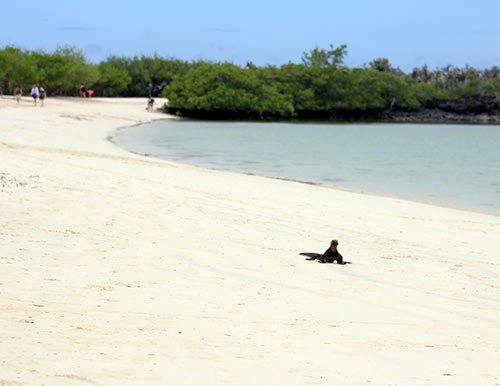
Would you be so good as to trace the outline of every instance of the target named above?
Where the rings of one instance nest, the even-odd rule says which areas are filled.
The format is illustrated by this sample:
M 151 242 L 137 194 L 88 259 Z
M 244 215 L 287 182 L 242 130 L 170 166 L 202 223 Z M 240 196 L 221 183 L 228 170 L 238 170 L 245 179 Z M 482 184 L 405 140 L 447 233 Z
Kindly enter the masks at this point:
M 346 44 L 349 67 L 380 57 L 406 72 L 500 65 L 499 0 L 23 0 L 1 10 L 0 47 L 72 45 L 91 62 L 157 53 L 282 65 Z

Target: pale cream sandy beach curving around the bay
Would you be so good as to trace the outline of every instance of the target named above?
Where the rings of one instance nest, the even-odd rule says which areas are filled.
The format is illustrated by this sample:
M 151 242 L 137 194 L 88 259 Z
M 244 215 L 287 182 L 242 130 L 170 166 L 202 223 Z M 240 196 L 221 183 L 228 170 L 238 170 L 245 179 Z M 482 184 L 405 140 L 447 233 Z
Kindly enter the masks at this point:
M 500 385 L 500 217 L 106 139 L 145 105 L 0 98 L 0 385 Z

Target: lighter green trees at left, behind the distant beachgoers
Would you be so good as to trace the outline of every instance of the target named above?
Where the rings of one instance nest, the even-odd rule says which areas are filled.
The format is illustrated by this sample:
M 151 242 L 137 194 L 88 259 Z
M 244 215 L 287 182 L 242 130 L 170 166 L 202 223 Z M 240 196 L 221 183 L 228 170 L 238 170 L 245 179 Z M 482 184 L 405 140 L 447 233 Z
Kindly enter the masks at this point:
M 7 46 L 0 49 L 0 94 L 12 93 L 18 85 L 27 91 L 37 83 L 52 96 L 76 96 L 83 84 L 92 88 L 95 96 L 147 97 L 159 95 L 188 67 L 185 61 L 157 55 L 111 56 L 96 64 L 72 46 L 51 53 Z

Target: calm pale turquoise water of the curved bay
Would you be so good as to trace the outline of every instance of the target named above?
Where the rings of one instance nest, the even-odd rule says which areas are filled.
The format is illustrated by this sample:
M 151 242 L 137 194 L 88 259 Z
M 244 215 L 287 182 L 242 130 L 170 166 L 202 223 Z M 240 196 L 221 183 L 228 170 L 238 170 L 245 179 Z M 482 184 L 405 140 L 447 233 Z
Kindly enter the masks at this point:
M 500 126 L 158 121 L 115 137 L 169 160 L 500 215 Z

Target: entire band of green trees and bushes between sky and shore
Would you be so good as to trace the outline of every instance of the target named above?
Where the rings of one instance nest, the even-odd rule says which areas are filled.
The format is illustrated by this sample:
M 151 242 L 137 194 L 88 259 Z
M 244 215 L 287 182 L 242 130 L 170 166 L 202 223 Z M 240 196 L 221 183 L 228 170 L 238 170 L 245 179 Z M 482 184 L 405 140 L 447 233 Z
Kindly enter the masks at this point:
M 363 68 L 343 66 L 347 47 L 318 47 L 302 63 L 241 67 L 154 57 L 112 56 L 89 63 L 82 52 L 0 49 L 0 93 L 21 84 L 43 85 L 49 95 L 76 95 L 80 84 L 95 96 L 162 95 L 174 114 L 198 118 L 379 118 L 394 112 L 439 109 L 457 114 L 500 113 L 500 69 L 427 66 L 405 74 L 386 58 Z

